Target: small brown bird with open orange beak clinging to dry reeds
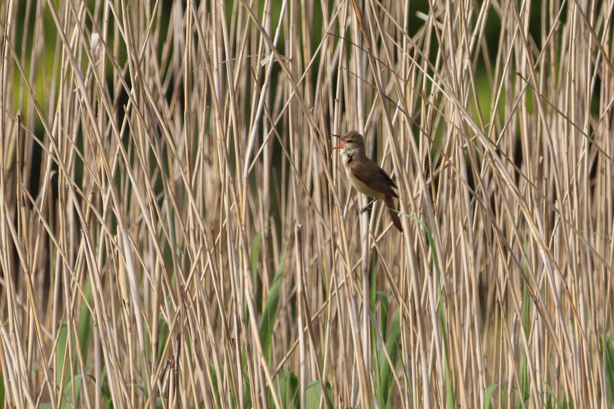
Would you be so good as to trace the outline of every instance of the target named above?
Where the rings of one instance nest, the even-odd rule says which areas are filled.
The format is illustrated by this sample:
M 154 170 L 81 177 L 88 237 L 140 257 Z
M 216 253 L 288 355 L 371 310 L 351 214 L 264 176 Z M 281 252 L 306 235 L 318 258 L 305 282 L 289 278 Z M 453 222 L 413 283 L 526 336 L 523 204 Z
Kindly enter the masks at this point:
M 392 218 L 392 224 L 398 231 L 403 232 L 401 221 L 395 212 L 394 199 L 398 194 L 392 188 L 398 189 L 388 174 L 365 153 L 365 138 L 358 131 L 349 131 L 345 136 L 336 136 L 343 140 L 341 145 L 333 149 L 341 149 L 341 159 L 346 168 L 348 179 L 352 186 L 362 194 L 373 197 L 373 201 L 381 199 L 386 202 L 386 207 Z M 371 201 L 369 204 L 371 204 Z M 368 206 L 368 205 L 367 205 Z M 363 212 L 366 206 L 360 210 Z

